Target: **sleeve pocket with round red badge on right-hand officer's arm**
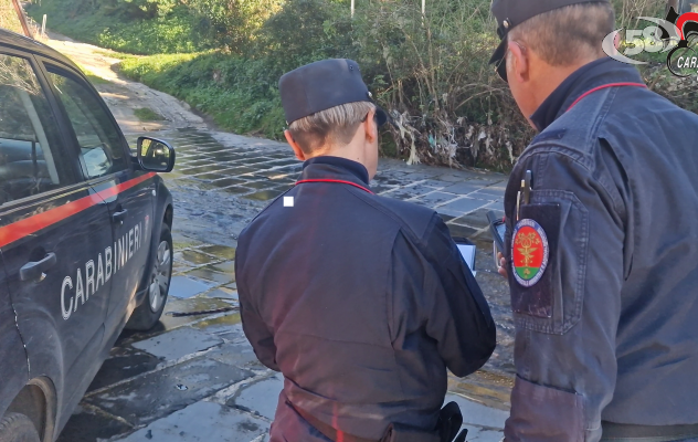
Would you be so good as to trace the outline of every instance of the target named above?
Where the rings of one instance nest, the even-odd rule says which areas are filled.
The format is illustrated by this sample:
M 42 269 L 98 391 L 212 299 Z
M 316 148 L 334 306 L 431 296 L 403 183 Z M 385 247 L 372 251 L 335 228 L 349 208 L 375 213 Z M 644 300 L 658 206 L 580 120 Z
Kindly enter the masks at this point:
M 533 191 L 508 238 L 517 327 L 561 335 L 579 323 L 588 246 L 589 215 L 579 199 L 563 190 Z

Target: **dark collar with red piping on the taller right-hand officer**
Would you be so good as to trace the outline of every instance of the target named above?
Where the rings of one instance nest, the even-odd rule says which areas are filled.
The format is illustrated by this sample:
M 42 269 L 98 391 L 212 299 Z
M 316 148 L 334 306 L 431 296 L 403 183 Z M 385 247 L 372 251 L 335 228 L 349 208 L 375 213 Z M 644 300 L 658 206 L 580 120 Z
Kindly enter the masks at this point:
M 562 116 L 582 94 L 596 86 L 616 82 L 643 83 L 634 66 L 617 62 L 609 56 L 588 63 L 560 83 L 560 86 L 546 98 L 530 119 L 538 131 L 543 131 L 552 122 Z

